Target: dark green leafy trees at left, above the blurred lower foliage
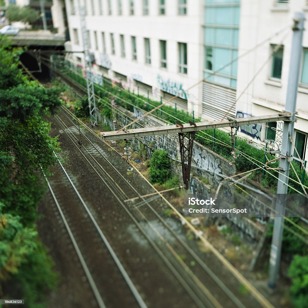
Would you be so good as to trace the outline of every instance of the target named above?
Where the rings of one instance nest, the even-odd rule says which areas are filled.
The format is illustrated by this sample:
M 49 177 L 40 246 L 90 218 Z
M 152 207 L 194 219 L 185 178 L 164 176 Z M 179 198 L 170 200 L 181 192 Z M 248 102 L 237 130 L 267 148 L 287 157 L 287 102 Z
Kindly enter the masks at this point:
M 5 44 L 0 47 L 4 59 L 0 71 L 0 201 L 6 212 L 32 224 L 43 194 L 41 168 L 48 173 L 56 161 L 53 150 L 59 150 L 56 139 L 48 135 L 50 124 L 43 120 L 61 105 L 59 89 L 23 77 L 18 70 L 20 50 L 8 47 L 3 37 L 1 41 Z M 9 76 L 12 81 L 7 80 Z

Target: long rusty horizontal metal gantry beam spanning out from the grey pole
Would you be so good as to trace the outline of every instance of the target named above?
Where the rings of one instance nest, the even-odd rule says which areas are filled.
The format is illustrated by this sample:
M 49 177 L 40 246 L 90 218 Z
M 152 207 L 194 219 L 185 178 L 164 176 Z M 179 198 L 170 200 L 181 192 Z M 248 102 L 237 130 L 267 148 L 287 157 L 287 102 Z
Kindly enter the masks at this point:
M 100 135 L 103 140 L 119 140 L 119 139 L 132 139 L 136 137 L 156 136 L 166 134 L 176 134 L 185 132 L 196 132 L 211 128 L 223 128 L 223 127 L 238 127 L 241 125 L 249 125 L 256 123 L 266 123 L 274 121 L 290 121 L 292 114 L 290 112 L 281 112 L 278 115 L 265 115 L 249 118 L 234 118 L 225 121 L 212 121 L 212 122 L 198 122 L 187 123 L 182 125 L 165 125 L 156 127 L 145 127 L 128 129 L 120 132 L 101 132 Z

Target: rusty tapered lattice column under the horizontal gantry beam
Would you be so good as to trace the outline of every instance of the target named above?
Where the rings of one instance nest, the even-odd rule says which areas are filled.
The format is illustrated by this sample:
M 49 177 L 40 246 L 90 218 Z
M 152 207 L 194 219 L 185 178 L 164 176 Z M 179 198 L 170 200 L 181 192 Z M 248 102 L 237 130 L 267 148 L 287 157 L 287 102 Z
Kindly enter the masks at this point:
M 182 174 L 185 189 L 188 189 L 190 179 L 190 165 L 193 156 L 193 140 L 195 138 L 195 134 L 196 132 L 179 133 Z

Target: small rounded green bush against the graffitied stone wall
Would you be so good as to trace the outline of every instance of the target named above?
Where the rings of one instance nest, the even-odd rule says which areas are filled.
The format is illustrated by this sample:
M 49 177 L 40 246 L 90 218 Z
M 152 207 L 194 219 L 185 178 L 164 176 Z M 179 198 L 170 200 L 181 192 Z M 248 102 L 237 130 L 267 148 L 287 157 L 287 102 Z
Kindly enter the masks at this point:
M 150 182 L 163 184 L 171 176 L 170 159 L 164 150 L 155 150 L 149 169 Z

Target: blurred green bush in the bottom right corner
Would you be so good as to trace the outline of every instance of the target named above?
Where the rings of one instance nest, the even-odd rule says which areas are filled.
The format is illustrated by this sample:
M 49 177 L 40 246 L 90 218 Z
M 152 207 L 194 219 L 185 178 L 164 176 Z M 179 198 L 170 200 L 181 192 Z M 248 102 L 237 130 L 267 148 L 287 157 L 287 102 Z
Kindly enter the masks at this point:
M 290 264 L 288 276 L 292 279 L 290 287 L 291 302 L 296 308 L 307 308 L 308 257 L 295 255 Z

